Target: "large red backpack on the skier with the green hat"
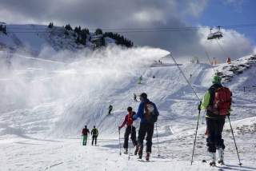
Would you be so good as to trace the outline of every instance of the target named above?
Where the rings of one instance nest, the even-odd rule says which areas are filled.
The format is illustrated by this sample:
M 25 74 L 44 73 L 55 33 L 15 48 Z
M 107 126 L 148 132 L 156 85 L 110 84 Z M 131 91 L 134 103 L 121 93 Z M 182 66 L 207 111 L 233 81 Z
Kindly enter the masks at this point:
M 230 111 L 232 93 L 229 88 L 218 88 L 214 93 L 214 113 L 226 115 Z

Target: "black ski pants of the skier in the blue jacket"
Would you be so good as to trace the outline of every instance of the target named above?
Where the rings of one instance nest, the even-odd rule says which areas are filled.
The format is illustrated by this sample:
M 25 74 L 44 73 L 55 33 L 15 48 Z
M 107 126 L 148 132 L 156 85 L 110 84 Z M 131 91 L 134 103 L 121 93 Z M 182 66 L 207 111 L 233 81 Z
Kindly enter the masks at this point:
M 152 137 L 154 133 L 154 123 L 141 123 L 138 129 L 138 155 L 142 155 L 143 141 L 146 136 L 146 152 L 151 153 Z

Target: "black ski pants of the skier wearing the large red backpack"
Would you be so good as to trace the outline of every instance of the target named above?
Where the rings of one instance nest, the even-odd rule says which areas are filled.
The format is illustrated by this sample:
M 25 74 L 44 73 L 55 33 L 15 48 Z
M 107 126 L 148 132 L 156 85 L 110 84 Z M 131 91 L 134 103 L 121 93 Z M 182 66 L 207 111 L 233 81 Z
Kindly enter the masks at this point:
M 206 138 L 206 145 L 210 153 L 216 153 L 216 149 L 225 149 L 224 140 L 222 139 L 222 130 L 225 124 L 225 118 L 207 118 L 206 125 L 208 137 Z

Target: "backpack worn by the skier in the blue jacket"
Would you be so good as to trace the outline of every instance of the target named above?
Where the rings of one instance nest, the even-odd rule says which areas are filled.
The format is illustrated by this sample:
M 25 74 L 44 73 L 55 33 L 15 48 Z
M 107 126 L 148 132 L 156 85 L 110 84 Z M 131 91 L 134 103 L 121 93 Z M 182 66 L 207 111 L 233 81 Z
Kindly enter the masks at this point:
M 158 121 L 158 110 L 154 109 L 154 105 L 151 101 L 144 104 L 144 118 L 147 122 L 154 124 Z

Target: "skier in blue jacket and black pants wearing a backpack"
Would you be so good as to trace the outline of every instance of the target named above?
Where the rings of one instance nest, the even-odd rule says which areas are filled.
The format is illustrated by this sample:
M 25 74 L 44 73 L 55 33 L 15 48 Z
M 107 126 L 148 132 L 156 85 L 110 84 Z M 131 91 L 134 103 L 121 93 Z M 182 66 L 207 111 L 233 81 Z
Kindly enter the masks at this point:
M 156 105 L 147 98 L 146 93 L 142 93 L 139 99 L 141 103 L 138 106 L 138 113 L 133 116 L 134 120 L 138 117 L 141 119 L 138 129 L 138 159 L 142 159 L 143 141 L 146 136 L 146 161 L 149 161 L 154 133 L 154 122 L 158 120 L 159 113 Z

